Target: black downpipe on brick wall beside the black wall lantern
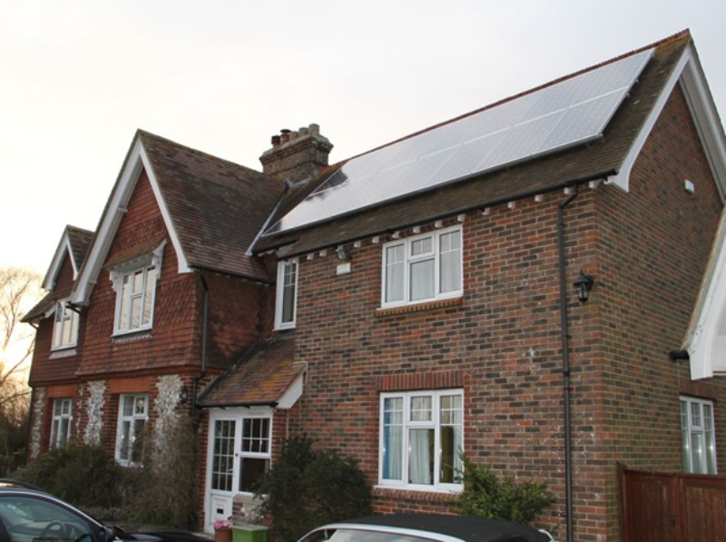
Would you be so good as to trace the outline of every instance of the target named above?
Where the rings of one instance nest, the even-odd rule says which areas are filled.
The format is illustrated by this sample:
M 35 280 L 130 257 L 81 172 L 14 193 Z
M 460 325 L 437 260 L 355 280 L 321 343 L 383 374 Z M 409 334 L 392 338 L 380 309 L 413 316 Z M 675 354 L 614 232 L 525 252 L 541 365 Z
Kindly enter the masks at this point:
M 564 389 L 564 491 L 567 514 L 567 542 L 573 542 L 573 465 L 570 420 L 570 330 L 567 319 L 567 269 L 564 259 L 564 208 L 577 197 L 578 185 L 557 205 L 557 240 L 560 257 L 560 319 L 562 329 L 562 374 Z

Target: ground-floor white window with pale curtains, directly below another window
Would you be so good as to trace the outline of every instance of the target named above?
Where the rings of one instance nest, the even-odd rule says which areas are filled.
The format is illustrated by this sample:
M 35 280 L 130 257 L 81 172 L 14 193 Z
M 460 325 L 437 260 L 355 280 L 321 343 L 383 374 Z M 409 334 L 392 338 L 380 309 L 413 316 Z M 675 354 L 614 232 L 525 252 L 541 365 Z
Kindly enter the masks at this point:
M 460 389 L 382 394 L 379 483 L 460 488 L 463 403 Z

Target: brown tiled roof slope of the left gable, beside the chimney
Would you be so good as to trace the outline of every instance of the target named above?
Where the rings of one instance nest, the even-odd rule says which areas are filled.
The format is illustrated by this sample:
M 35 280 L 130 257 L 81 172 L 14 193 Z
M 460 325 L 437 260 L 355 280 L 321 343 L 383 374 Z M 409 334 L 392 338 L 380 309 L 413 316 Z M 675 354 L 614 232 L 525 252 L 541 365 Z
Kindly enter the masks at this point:
M 282 182 L 139 131 L 190 267 L 270 281 L 246 251 L 284 191 Z

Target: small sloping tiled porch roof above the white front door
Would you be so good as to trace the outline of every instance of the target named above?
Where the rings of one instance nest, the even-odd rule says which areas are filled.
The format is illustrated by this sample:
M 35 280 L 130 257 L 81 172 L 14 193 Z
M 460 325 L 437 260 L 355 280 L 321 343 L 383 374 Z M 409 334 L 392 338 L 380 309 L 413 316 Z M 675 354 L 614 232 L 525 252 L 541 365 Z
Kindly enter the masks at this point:
M 261 340 L 240 364 L 211 385 L 200 407 L 275 405 L 302 372 L 294 364 L 295 340 L 277 336 Z

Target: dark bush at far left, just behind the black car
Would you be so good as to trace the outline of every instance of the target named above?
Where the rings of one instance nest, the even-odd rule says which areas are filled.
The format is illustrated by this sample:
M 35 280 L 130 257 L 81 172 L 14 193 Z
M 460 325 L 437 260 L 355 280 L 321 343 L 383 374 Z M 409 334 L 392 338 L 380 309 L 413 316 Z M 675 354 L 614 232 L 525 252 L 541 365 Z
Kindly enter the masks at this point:
M 102 446 L 69 441 L 16 473 L 80 508 L 114 508 L 122 496 L 123 468 Z

